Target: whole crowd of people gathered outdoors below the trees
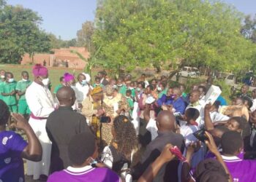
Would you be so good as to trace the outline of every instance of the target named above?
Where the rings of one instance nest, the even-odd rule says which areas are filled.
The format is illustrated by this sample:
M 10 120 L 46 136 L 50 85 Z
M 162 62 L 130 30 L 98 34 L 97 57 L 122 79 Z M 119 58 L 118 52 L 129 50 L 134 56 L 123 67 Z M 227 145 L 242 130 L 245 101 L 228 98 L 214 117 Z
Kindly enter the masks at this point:
M 256 181 L 256 89 L 206 103 L 214 80 L 1 70 L 0 181 Z M 216 85 L 222 90 L 222 87 Z M 26 140 L 15 132 L 23 130 Z M 246 175 L 245 175 L 246 174 Z

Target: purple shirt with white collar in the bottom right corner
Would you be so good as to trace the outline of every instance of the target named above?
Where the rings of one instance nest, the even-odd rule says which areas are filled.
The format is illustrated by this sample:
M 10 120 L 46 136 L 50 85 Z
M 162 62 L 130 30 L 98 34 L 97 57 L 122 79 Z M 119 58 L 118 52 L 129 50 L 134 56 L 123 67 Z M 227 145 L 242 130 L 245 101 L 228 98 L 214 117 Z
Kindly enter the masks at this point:
M 256 161 L 243 160 L 238 157 L 222 156 L 234 182 L 256 181 Z

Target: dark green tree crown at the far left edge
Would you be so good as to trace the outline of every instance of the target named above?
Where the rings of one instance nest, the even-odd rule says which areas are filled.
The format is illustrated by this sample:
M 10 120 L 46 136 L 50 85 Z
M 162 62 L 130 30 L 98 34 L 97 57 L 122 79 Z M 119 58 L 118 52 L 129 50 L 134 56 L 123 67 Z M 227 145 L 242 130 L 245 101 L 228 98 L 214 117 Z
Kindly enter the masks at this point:
M 31 9 L 4 5 L 0 9 L 0 63 L 18 63 L 28 52 L 48 52 L 50 41 L 39 29 L 42 18 Z

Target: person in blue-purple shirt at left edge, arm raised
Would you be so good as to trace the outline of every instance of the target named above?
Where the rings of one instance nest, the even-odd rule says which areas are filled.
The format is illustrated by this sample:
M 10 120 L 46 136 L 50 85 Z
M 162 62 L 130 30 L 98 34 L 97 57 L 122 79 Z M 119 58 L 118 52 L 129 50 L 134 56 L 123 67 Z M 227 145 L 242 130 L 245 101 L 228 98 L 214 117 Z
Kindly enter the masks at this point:
M 12 114 L 13 127 L 23 130 L 28 143 L 15 132 L 7 131 L 6 124 L 10 111 L 6 103 L 0 100 L 0 181 L 25 181 L 22 158 L 38 162 L 42 159 L 42 146 L 29 123 L 20 114 Z

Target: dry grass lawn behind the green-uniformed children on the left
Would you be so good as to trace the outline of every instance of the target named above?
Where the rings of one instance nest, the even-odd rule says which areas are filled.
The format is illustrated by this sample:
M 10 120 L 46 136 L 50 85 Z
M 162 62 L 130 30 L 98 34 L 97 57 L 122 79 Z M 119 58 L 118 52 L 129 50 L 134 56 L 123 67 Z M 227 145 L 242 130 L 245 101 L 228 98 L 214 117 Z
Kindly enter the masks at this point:
M 32 74 L 33 66 L 20 66 L 20 65 L 0 65 L 0 69 L 4 69 L 5 71 L 10 71 L 14 75 L 14 79 L 18 82 L 21 79 L 21 71 L 28 71 L 30 79 L 33 80 Z M 82 73 L 82 69 L 72 69 L 72 68 L 53 68 L 49 67 L 49 78 L 52 84 L 52 91 L 56 85 L 59 84 L 59 78 L 64 75 L 64 73 L 69 72 L 69 74 L 78 74 Z

